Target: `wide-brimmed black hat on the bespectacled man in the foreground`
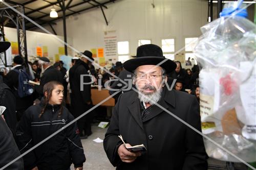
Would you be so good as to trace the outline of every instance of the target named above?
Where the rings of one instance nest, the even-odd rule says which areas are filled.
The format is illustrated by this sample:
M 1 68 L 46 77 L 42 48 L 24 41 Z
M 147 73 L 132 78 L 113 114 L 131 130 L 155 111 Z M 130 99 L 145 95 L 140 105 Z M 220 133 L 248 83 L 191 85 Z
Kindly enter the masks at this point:
M 137 48 L 136 58 L 127 60 L 123 63 L 123 67 L 130 72 L 133 72 L 141 65 L 157 65 L 164 61 L 159 66 L 164 68 L 166 73 L 172 72 L 177 67 L 172 60 L 166 59 L 163 56 L 162 49 L 155 44 L 145 44 Z

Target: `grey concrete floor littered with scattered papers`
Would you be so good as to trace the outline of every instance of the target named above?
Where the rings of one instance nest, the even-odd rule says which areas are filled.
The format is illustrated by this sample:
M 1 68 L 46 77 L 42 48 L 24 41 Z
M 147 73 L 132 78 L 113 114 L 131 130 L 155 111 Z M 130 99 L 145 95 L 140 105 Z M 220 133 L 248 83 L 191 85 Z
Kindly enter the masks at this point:
M 104 139 L 104 135 L 107 129 L 98 128 L 98 124 L 92 125 L 93 134 L 89 136 L 87 139 L 82 139 L 82 145 L 84 149 L 84 153 L 86 155 L 86 163 L 83 165 L 83 169 L 111 169 L 114 170 L 115 167 L 112 166 L 109 159 L 106 157 L 106 154 L 103 149 L 103 142 L 96 143 L 93 139 L 99 137 L 100 139 Z M 209 158 L 208 159 L 209 168 L 208 170 L 213 169 L 226 169 L 226 162 Z M 243 163 L 235 163 L 234 170 L 246 170 L 247 167 Z M 74 170 L 74 166 L 71 166 L 71 170 Z

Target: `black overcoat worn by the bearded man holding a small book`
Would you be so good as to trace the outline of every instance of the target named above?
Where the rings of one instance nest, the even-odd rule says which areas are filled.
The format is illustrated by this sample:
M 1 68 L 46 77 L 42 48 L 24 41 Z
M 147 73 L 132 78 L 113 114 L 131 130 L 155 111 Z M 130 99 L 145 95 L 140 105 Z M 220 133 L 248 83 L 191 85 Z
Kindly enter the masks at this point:
M 195 96 L 164 88 L 158 104 L 201 131 Z M 122 135 L 131 145 L 143 143 L 147 152 L 133 163 L 122 162 L 117 154 L 121 144 L 117 135 Z M 106 155 L 117 169 L 207 169 L 208 156 L 202 136 L 156 105 L 142 122 L 135 91 L 120 95 L 103 144 Z

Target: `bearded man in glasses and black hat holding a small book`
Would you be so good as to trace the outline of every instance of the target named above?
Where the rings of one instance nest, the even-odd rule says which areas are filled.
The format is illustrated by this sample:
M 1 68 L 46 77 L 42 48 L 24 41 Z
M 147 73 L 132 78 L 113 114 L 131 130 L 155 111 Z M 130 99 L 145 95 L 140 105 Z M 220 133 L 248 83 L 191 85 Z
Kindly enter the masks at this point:
M 165 59 L 159 46 L 146 44 L 139 46 L 137 57 L 123 67 L 134 72 L 139 93 L 121 94 L 114 108 L 103 142 L 111 163 L 117 169 L 206 170 L 202 136 L 163 110 L 201 130 L 195 96 L 164 86 L 165 74 L 175 70 L 176 63 Z M 127 150 L 118 135 L 127 147 L 144 144 L 147 151 Z

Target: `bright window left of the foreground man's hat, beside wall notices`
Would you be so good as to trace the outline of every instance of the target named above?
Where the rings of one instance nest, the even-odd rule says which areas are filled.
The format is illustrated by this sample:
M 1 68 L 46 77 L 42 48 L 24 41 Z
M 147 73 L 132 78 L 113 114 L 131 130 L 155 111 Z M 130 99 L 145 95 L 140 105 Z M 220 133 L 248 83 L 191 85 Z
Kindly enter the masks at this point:
M 125 62 L 130 59 L 129 41 L 117 42 L 118 61 Z

